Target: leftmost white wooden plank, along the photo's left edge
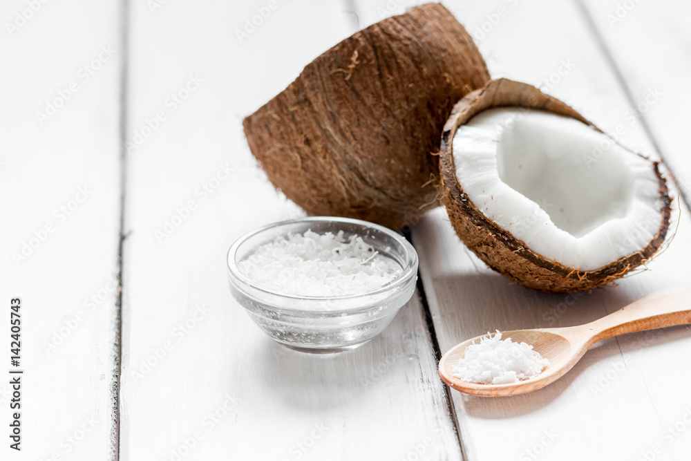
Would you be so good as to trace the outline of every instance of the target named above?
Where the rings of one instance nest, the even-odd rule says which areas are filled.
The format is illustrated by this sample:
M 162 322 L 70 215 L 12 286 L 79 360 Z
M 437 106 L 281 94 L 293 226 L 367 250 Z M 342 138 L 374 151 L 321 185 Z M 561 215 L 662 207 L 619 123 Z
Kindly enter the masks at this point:
M 3 460 L 113 459 L 119 15 L 114 0 L 0 6 Z M 21 452 L 8 438 L 15 297 Z

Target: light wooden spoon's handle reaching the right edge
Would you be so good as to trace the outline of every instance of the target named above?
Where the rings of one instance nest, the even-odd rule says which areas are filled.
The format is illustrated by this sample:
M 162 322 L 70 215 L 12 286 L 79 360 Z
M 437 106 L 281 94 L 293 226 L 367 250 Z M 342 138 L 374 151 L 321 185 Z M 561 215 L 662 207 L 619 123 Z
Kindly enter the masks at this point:
M 647 294 L 584 327 L 594 332 L 594 344 L 616 335 L 687 323 L 691 323 L 691 287 L 674 286 Z

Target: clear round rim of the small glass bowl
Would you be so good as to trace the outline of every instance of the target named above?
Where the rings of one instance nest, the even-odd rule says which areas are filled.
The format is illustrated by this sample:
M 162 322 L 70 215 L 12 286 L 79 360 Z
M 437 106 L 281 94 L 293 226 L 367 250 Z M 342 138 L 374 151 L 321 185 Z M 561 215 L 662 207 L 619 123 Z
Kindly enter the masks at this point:
M 303 224 L 303 223 L 342 223 L 342 224 L 350 224 L 350 225 L 359 225 L 362 227 L 370 227 L 372 229 L 376 229 L 379 232 L 383 234 L 387 234 L 391 238 L 393 238 L 401 247 L 404 248 L 406 260 L 408 264 L 403 267 L 403 272 L 395 279 L 392 280 L 388 283 L 385 283 L 384 285 L 381 285 L 381 287 L 377 288 L 376 290 L 371 290 L 368 292 L 364 293 L 355 293 L 355 294 L 345 294 L 341 296 L 327 296 L 327 297 L 316 297 L 316 296 L 299 296 L 296 294 L 285 294 L 281 292 L 276 292 L 274 290 L 269 290 L 268 288 L 263 287 L 262 285 L 258 285 L 256 282 L 252 281 L 251 279 L 247 278 L 245 274 L 240 272 L 238 265 L 236 264 L 235 261 L 235 255 L 238 252 L 238 248 L 240 245 L 243 245 L 245 241 L 247 241 L 249 238 L 252 238 L 256 236 L 257 234 L 261 234 L 262 232 L 265 232 L 269 229 L 273 229 L 274 227 L 281 227 L 285 225 L 292 225 L 292 224 Z M 364 220 L 359 220 L 359 219 L 353 219 L 353 218 L 340 218 L 337 216 L 309 216 L 306 218 L 296 218 L 296 219 L 289 219 L 289 220 L 283 220 L 279 221 L 277 223 L 272 223 L 269 225 L 265 225 L 262 227 L 258 227 L 257 229 L 254 229 L 250 232 L 247 232 L 247 234 L 244 234 L 243 236 L 240 236 L 229 248 L 227 256 L 226 256 L 226 264 L 228 267 L 228 273 L 231 275 L 233 279 L 236 281 L 240 281 L 244 285 L 249 285 L 250 288 L 253 290 L 257 290 L 259 292 L 264 292 L 266 294 L 276 296 L 276 297 L 283 297 L 285 299 L 299 299 L 299 300 L 304 300 L 304 301 L 339 301 L 341 299 L 357 299 L 361 297 L 370 297 L 373 295 L 381 294 L 384 292 L 395 292 L 396 288 L 399 288 L 400 285 L 405 285 L 410 277 L 412 276 L 417 276 L 417 265 L 418 265 L 418 259 L 417 259 L 417 251 L 415 251 L 415 247 L 413 245 L 410 245 L 410 242 L 406 240 L 404 236 L 401 236 L 395 231 L 392 231 L 391 229 L 388 229 L 387 227 L 377 225 L 375 223 L 370 223 L 368 221 Z M 238 289 L 242 290 L 242 288 L 238 287 Z M 245 291 L 245 290 L 243 290 Z M 356 313 L 356 312 L 361 312 L 363 310 L 370 310 L 372 306 L 368 306 L 366 308 L 360 308 L 360 309 L 343 309 L 343 310 L 332 310 L 330 313 L 339 313 L 339 312 L 350 312 L 350 313 Z M 278 310 L 284 310 L 281 308 L 277 308 Z M 302 309 L 290 309 L 286 310 L 286 312 L 312 312 L 310 310 L 302 310 Z

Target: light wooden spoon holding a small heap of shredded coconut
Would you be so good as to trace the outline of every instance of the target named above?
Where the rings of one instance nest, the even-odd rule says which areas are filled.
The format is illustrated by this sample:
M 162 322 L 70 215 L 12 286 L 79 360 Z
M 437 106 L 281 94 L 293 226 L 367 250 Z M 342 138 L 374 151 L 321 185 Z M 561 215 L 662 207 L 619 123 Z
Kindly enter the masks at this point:
M 446 352 L 439 361 L 439 374 L 446 384 L 467 394 L 486 397 L 524 394 L 562 377 L 598 341 L 687 323 L 691 323 L 691 287 L 663 288 L 585 325 L 502 332 L 504 339 L 510 337 L 514 342 L 531 344 L 542 357 L 549 359 L 549 366 L 535 377 L 509 384 L 475 384 L 454 377 L 453 366 L 464 357 L 466 347 L 480 341 L 482 336 L 468 339 Z

